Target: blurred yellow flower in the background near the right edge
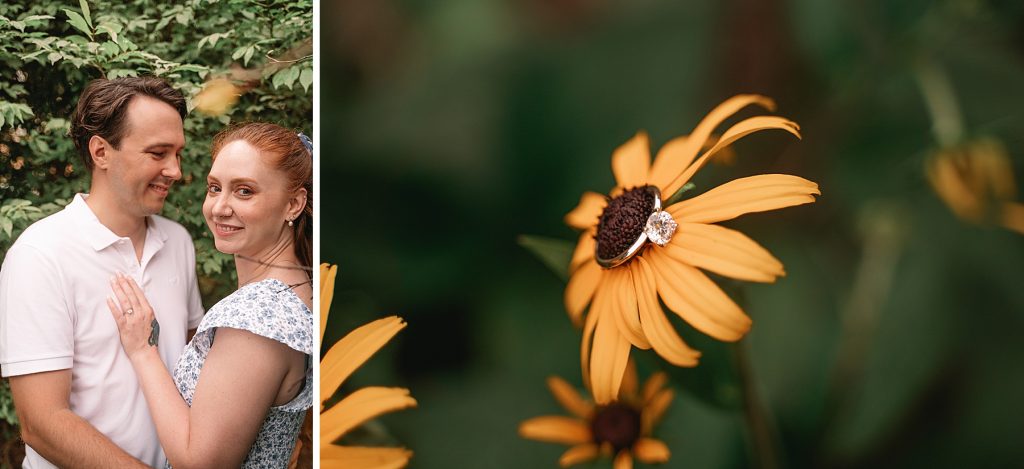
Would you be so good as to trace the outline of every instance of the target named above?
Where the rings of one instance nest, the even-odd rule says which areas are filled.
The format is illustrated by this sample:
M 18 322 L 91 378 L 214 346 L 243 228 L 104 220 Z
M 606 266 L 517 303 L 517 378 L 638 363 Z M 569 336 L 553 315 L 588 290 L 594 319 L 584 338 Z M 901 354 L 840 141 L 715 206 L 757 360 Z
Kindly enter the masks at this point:
M 935 194 L 961 219 L 1024 232 L 1024 205 L 1006 147 L 982 138 L 936 152 L 926 163 Z

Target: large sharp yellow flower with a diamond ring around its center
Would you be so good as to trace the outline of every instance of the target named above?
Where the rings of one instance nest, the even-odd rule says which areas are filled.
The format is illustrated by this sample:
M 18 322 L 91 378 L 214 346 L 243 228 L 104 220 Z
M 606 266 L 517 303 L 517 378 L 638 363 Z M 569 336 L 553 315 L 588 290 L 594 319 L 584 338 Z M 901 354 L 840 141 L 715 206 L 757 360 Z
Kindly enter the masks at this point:
M 611 157 L 616 185 L 609 197 L 586 193 L 565 216 L 569 226 L 583 230 L 569 265 L 565 307 L 575 325 L 583 324 L 584 381 L 599 404 L 617 395 L 631 344 L 653 348 L 676 366 L 696 366 L 700 353 L 673 329 L 658 297 L 698 331 L 736 341 L 750 330 L 751 319 L 701 269 L 765 283 L 785 274 L 782 263 L 753 240 L 713 223 L 814 202 L 820 194 L 816 183 L 762 174 L 657 210 L 658 201 L 671 201 L 710 158 L 739 138 L 767 129 L 800 136 L 797 124 L 788 120 L 753 117 L 728 128 L 698 158 L 715 127 L 749 104 L 774 109 L 764 96 L 734 96 L 689 136 L 662 146 L 653 163 L 647 135 L 637 133 Z

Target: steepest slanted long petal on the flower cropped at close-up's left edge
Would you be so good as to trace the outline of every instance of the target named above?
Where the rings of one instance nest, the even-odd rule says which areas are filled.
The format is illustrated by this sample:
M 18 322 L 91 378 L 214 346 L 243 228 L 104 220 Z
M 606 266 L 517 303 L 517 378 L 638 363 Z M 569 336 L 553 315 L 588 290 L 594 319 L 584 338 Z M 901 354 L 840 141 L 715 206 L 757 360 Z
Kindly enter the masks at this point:
M 334 344 L 321 360 L 321 403 L 404 328 L 401 317 L 383 317 L 348 333 Z

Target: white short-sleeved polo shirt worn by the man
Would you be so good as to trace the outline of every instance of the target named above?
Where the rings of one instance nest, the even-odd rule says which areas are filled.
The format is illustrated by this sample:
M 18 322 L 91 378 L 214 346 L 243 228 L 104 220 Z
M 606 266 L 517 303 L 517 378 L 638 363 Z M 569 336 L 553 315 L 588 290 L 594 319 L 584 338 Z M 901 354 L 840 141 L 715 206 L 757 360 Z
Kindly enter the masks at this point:
M 151 466 L 164 453 L 118 328 L 106 307 L 121 271 L 145 292 L 160 322 L 160 356 L 173 369 L 186 331 L 203 318 L 196 251 L 181 225 L 147 217 L 142 260 L 78 195 L 29 226 L 0 269 L 0 369 L 4 377 L 71 369 L 71 410 Z M 25 467 L 51 468 L 32 447 Z

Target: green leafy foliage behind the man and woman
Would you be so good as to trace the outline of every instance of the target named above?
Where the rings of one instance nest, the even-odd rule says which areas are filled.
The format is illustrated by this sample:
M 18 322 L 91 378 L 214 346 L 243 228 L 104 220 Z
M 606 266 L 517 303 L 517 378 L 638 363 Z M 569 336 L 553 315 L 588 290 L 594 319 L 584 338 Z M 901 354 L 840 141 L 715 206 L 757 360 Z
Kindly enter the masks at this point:
M 33 221 L 88 187 L 68 119 L 92 79 L 157 75 L 188 98 L 182 180 L 163 215 L 196 240 L 204 303 L 233 290 L 231 258 L 213 248 L 202 203 L 210 140 L 232 121 L 312 131 L 311 0 L 18 1 L 0 4 L 0 259 Z M 193 111 L 212 77 L 244 77 L 225 115 Z M 0 465 L 18 460 L 16 418 L 0 387 Z

